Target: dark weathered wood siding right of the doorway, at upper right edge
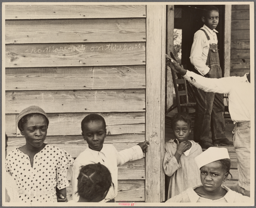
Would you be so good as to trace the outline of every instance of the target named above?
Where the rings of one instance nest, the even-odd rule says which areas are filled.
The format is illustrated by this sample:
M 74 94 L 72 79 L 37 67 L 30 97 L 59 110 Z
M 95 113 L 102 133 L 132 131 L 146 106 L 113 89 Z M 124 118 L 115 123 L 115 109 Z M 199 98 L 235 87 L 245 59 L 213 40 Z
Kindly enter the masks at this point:
M 250 5 L 232 5 L 230 76 L 250 70 Z

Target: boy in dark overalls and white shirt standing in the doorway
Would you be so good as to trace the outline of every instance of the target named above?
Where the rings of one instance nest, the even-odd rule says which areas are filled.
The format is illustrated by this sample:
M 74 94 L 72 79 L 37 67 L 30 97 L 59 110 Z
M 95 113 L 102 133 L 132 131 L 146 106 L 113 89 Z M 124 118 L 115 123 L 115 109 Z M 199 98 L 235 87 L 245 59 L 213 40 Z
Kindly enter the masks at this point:
M 221 78 L 222 71 L 218 53 L 218 39 L 215 28 L 219 23 L 219 10 L 208 5 L 204 8 L 203 27 L 194 35 L 190 61 L 200 75 L 209 78 Z M 206 93 L 196 89 L 196 116 L 194 126 L 194 141 L 202 148 L 212 146 L 233 146 L 225 136 L 224 102 L 219 93 Z M 208 142 L 212 131 L 213 144 Z

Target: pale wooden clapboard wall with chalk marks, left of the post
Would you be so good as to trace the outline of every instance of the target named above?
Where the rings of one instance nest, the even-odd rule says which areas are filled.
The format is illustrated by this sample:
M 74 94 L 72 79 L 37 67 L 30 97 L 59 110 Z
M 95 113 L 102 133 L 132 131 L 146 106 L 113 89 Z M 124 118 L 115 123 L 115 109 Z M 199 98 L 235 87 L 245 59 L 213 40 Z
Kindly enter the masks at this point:
M 118 151 L 145 140 L 145 5 L 5 5 L 5 18 L 8 150 L 25 144 L 16 118 L 30 105 L 49 115 L 45 142 L 74 158 L 89 113 L 105 118 Z M 116 201 L 145 201 L 145 158 L 118 179 Z

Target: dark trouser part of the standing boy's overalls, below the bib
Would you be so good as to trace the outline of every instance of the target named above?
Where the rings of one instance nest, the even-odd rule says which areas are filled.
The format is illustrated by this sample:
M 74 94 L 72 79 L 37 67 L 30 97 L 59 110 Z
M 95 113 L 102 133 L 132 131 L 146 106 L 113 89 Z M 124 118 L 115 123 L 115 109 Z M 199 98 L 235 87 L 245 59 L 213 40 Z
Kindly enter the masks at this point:
M 220 66 L 212 66 L 209 78 L 220 77 Z M 212 140 L 225 138 L 223 95 L 196 89 L 196 101 L 194 141 L 208 141 L 210 129 Z

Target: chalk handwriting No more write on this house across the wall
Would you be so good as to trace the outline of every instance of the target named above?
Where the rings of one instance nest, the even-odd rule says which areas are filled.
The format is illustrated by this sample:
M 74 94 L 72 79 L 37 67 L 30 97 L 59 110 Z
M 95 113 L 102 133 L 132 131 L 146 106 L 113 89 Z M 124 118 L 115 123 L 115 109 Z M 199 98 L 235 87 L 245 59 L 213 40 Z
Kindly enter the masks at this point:
M 134 45 L 129 45 L 127 46 L 127 43 L 124 43 L 122 45 L 117 45 L 113 43 L 108 43 L 105 45 L 100 45 L 100 46 L 91 46 L 91 45 L 68 45 L 68 46 L 61 46 L 61 47 L 56 47 L 56 46 L 49 46 L 46 48 L 36 48 L 32 47 L 29 48 L 25 51 L 25 53 L 33 53 L 33 54 L 40 54 L 40 53 L 57 53 L 57 52 L 74 52 L 74 51 L 128 51 L 128 50 L 137 50 L 137 49 L 142 49 L 145 50 L 145 45 L 142 45 L 140 43 L 134 44 Z

